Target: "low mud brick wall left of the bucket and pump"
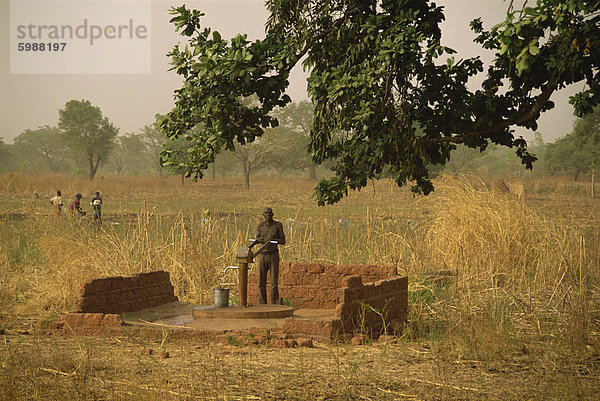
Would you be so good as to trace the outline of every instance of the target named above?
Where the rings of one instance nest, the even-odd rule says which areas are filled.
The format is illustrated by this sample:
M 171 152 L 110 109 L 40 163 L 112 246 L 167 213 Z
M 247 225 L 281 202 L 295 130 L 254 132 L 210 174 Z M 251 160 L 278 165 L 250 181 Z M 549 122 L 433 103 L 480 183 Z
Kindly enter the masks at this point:
M 177 301 L 166 271 L 108 277 L 79 288 L 77 313 L 122 313 Z

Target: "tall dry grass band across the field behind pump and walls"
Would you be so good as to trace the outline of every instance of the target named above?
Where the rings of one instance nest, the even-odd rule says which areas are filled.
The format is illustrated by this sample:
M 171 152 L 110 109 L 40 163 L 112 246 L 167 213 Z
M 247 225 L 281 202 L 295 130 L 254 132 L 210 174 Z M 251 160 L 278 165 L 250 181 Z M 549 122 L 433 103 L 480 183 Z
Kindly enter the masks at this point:
M 3 180 L 16 195 L 41 183 Z M 210 303 L 212 288 L 223 283 L 235 295 L 235 276 L 225 276 L 223 268 L 254 235 L 262 206 L 273 204 L 288 236 L 284 260 L 393 264 L 408 274 L 407 336 L 491 359 L 534 338 L 570 349 L 597 347 L 597 229 L 594 234 L 573 220 L 550 218 L 522 197 L 489 191 L 475 177 L 440 177 L 434 195 L 416 199 L 382 181 L 325 209 L 314 207 L 305 194 L 313 184 L 306 182 L 257 180 L 258 190 L 245 192 L 232 181 L 181 187 L 168 180 L 121 180 L 107 177 L 105 191 L 139 196 L 141 207 L 133 219 L 113 209 L 119 225 L 107 221 L 98 228 L 46 215 L 3 222 L 4 311 L 61 313 L 73 307 L 86 280 L 158 269 L 170 272 L 182 301 Z M 71 184 L 102 191 L 96 181 Z M 198 205 L 175 212 L 182 198 L 212 201 L 215 213 L 205 219 Z

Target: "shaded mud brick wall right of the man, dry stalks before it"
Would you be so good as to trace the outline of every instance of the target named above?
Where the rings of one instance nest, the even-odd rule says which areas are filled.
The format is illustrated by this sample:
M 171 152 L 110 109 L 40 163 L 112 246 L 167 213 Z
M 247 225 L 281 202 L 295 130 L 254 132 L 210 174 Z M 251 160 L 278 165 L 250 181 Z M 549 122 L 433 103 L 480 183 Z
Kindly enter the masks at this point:
M 395 322 L 406 320 L 408 278 L 396 276 L 363 284 L 360 276 L 346 277 L 338 290 L 338 301 L 335 318 L 341 321 L 343 332 L 379 332 L 384 323 L 393 327 Z

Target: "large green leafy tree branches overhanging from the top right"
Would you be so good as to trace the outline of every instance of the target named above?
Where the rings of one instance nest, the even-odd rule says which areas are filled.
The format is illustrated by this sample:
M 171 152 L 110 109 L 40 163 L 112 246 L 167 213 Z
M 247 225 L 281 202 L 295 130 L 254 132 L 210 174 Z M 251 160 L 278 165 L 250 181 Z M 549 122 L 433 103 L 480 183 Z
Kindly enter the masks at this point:
M 492 28 L 472 21 L 475 42 L 495 52 L 487 66 L 450 56 L 441 43 L 443 8 L 426 0 L 267 0 L 266 7 L 266 36 L 255 41 L 225 40 L 201 25 L 200 11 L 171 9 L 187 43 L 169 56 L 185 81 L 161 127 L 170 138 L 190 135 L 188 176 L 201 178 L 216 153 L 278 125 L 272 112 L 290 103 L 288 78 L 300 62 L 314 104 L 308 150 L 316 163 L 331 160 L 335 173 L 316 187 L 320 205 L 384 170 L 427 194 L 429 166 L 448 161 L 457 144 L 513 148 L 531 168 L 536 158 L 514 127 L 537 129 L 553 93 L 573 83 L 583 84 L 571 99 L 578 116 L 599 103 L 598 0 L 511 1 Z M 253 94 L 258 103 L 243 104 Z

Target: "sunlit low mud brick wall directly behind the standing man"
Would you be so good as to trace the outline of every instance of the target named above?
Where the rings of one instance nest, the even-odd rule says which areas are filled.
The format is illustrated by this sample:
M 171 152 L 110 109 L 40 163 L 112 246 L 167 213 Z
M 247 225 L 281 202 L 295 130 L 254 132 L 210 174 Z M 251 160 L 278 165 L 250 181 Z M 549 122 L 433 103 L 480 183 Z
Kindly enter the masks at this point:
M 296 309 L 334 309 L 338 289 L 344 278 L 359 275 L 373 282 L 396 275 L 395 266 L 322 265 L 317 263 L 279 264 L 279 297 L 289 299 Z M 248 274 L 248 302 L 258 303 L 258 273 Z M 270 280 L 267 278 L 267 302 L 270 302 Z

